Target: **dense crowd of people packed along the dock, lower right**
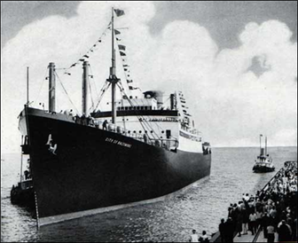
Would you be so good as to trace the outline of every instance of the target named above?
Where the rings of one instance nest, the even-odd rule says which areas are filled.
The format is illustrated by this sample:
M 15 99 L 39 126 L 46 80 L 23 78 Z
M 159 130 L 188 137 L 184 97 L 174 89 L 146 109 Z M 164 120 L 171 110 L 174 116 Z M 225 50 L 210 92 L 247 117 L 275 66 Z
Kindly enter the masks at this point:
M 235 233 L 254 235 L 259 228 L 268 242 L 297 241 L 296 203 L 297 162 L 286 162 L 261 192 L 244 193 L 238 204 L 230 205 L 227 220 L 219 224 L 222 242 L 233 242 Z

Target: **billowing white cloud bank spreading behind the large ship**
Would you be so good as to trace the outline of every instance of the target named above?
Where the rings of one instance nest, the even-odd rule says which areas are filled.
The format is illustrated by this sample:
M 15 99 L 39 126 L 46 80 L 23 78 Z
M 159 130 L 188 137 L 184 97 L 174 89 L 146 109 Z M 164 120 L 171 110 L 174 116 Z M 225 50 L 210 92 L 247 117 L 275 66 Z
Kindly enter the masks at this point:
M 297 133 L 297 43 L 291 42 L 286 24 L 247 23 L 239 47 L 219 51 L 207 28 L 187 20 L 172 21 L 160 35 L 151 35 L 148 22 L 157 14 L 152 2 L 82 2 L 74 17 L 35 21 L 4 46 L 1 136 L 5 151 L 19 146 L 16 118 L 26 102 L 26 67 L 30 67 L 30 99 L 38 97 L 46 104 L 48 63 L 69 67 L 82 57 L 106 28 L 112 4 L 126 12 L 115 25 L 129 27 L 122 36 L 134 81 L 143 90 L 184 90 L 199 129 L 213 145 L 237 146 L 239 141 L 257 145 L 260 133 L 274 137 L 275 145 L 297 144 L 293 135 Z M 109 38 L 104 36 L 90 57 L 93 94 L 108 76 Z M 254 59 L 263 68 L 260 75 L 250 70 Z M 63 70 L 58 73 L 80 109 L 82 67 L 75 67 L 71 76 L 63 75 Z M 118 74 L 124 80 L 121 68 Z M 71 105 L 62 91 L 58 103 L 58 109 Z

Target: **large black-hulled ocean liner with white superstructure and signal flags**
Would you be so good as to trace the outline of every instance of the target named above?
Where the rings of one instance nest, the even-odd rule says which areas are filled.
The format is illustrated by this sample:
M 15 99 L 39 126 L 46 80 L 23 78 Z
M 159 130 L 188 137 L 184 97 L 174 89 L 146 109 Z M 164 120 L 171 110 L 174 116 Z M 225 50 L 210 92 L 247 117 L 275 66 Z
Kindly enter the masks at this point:
M 83 59 L 82 114 L 56 111 L 54 63 L 48 67 L 49 109 L 27 102 L 20 113 L 21 154 L 29 164 L 12 194 L 18 188 L 34 195 L 39 226 L 164 200 L 210 174 L 210 144 L 195 128 L 181 91 L 136 97 L 131 82 L 129 94 L 123 88 L 115 71 L 116 47 L 123 49 L 115 44 L 114 13 L 124 12 L 112 12 L 112 67 L 103 89 L 112 90 L 111 109 L 89 113 L 90 64 Z

